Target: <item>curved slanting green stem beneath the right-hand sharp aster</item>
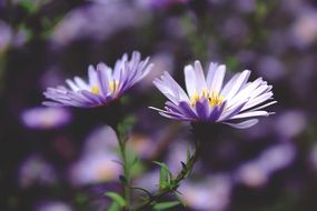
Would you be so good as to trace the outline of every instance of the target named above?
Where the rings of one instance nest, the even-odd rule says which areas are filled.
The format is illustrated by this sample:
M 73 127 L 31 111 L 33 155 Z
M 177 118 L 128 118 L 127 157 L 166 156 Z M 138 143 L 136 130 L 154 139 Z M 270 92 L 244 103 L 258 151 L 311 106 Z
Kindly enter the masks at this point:
M 164 197 L 167 193 L 175 192 L 177 190 L 177 188 L 179 187 L 179 183 L 181 182 L 181 180 L 187 178 L 188 173 L 192 170 L 194 164 L 195 164 L 197 157 L 198 157 L 198 150 L 199 150 L 199 142 L 195 141 L 195 151 L 191 154 L 188 162 L 186 163 L 186 168 L 184 168 L 178 173 L 178 175 L 174 179 L 174 182 L 172 182 L 174 184 L 171 187 L 158 190 L 150 198 L 148 198 L 148 200 L 146 200 L 143 203 L 141 203 L 137 208 L 132 209 L 132 211 L 146 210 L 149 207 L 151 207 L 152 202 L 156 202 L 159 198 Z

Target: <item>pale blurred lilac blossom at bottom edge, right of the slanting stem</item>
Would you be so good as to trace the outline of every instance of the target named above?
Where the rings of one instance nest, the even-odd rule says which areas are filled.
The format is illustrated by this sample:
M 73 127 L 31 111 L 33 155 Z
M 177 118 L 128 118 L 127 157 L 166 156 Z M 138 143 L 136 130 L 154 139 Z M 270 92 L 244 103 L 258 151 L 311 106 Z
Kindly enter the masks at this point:
M 205 181 L 185 181 L 179 187 L 185 203 L 201 211 L 221 211 L 230 203 L 232 182 L 228 175 L 212 175 Z

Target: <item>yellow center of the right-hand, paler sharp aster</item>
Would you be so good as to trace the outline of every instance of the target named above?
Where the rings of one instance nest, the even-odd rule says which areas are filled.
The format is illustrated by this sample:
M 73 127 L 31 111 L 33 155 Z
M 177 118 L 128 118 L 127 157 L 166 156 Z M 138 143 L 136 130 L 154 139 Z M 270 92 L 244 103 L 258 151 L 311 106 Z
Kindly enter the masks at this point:
M 210 107 L 220 107 L 225 100 L 224 96 L 220 96 L 218 92 L 208 90 L 202 90 L 202 94 L 199 96 L 198 93 L 195 93 L 190 97 L 190 102 L 192 105 L 196 105 L 196 103 L 201 99 L 205 98 L 208 100 Z

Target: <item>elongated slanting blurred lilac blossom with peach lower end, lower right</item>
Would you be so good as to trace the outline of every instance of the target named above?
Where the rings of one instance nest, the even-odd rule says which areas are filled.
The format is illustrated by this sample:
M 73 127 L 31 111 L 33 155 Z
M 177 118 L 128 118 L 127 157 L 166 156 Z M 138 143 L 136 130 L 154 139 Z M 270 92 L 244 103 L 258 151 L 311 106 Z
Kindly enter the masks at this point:
M 295 148 L 288 143 L 271 147 L 259 158 L 242 164 L 236 171 L 236 180 L 249 187 L 261 187 L 271 173 L 289 165 L 295 155 Z

